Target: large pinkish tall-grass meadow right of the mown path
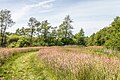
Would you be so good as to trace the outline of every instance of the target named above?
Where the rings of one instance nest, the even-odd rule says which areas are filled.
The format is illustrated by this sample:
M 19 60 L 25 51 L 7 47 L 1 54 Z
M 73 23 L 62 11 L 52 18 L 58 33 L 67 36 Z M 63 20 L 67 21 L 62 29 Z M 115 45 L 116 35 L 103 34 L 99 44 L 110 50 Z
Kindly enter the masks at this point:
M 102 47 L 46 47 L 38 57 L 55 80 L 119 80 L 120 58 L 94 54 L 97 50 Z

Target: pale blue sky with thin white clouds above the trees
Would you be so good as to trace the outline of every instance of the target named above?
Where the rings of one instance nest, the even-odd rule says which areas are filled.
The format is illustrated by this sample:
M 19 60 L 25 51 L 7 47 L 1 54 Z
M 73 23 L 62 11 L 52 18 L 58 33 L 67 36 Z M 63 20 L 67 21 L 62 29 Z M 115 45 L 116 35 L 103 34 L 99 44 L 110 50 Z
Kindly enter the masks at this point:
M 0 10 L 11 11 L 16 22 L 8 29 L 28 27 L 30 17 L 38 21 L 48 20 L 51 26 L 59 26 L 66 15 L 73 20 L 73 33 L 84 29 L 85 35 L 109 26 L 116 16 L 120 16 L 120 0 L 0 0 Z

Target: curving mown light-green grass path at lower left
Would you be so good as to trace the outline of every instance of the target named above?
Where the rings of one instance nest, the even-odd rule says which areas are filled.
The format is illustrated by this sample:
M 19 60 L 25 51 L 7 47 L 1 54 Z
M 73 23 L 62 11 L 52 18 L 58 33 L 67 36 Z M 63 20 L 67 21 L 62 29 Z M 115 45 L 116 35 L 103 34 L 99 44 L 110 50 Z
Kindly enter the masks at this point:
M 54 80 L 44 64 L 36 58 L 36 52 L 12 57 L 0 67 L 0 80 Z

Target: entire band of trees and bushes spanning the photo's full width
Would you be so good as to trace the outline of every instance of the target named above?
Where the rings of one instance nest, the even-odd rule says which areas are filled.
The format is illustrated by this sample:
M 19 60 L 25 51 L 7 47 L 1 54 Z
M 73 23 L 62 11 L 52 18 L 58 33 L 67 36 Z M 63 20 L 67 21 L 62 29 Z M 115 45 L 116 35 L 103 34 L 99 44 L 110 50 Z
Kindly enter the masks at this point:
M 15 33 L 6 32 L 15 22 L 11 19 L 9 10 L 0 11 L 0 46 L 1 47 L 27 47 L 27 46 L 105 46 L 113 50 L 120 50 L 120 17 L 117 16 L 107 27 L 85 36 L 81 28 L 73 34 L 73 20 L 67 15 L 63 22 L 53 27 L 48 20 L 38 21 L 31 17 L 28 27 L 18 28 Z

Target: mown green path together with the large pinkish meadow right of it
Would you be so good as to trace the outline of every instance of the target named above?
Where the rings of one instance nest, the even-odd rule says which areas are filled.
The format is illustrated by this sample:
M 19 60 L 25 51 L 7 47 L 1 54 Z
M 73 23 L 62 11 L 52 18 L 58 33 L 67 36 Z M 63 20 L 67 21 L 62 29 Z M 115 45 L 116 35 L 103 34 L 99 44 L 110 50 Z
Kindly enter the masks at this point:
M 99 46 L 41 47 L 11 56 L 0 66 L 0 79 L 120 80 L 119 56 Z

